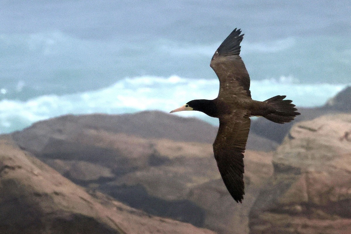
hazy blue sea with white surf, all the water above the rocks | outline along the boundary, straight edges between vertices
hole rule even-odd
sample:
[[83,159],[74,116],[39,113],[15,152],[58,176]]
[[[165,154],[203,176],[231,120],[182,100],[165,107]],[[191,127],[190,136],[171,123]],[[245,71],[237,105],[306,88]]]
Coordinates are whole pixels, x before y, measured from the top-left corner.
[[210,59],[236,27],[255,99],[281,94],[312,107],[351,83],[350,1],[0,6],[0,133],[67,113],[171,111],[216,98]]

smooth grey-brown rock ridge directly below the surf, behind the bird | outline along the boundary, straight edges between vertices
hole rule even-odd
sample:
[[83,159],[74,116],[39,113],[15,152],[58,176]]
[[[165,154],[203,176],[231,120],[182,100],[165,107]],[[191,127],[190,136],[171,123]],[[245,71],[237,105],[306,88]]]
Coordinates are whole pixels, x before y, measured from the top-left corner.
[[[125,133],[141,138],[163,138],[211,144],[216,139],[218,131],[218,127],[202,120],[183,118],[160,111],[143,111],[122,115],[64,115],[39,121],[29,129],[31,131],[15,132],[13,135],[18,142],[25,142],[35,151],[42,151],[41,147],[47,145],[50,140],[55,140],[57,144],[61,144],[62,142],[59,142],[59,140],[63,135],[69,134],[71,137],[79,138],[82,129]],[[49,145],[51,144],[53,143],[49,143]],[[250,133],[246,149],[273,151],[277,146],[278,144],[272,140]],[[82,149],[77,149],[77,151],[81,152]]]

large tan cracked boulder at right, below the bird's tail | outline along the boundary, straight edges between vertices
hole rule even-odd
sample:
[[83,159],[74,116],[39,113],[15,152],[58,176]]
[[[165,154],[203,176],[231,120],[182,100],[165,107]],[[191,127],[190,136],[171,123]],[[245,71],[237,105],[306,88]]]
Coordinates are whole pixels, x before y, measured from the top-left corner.
[[351,233],[351,115],[293,126],[250,212],[250,233]]

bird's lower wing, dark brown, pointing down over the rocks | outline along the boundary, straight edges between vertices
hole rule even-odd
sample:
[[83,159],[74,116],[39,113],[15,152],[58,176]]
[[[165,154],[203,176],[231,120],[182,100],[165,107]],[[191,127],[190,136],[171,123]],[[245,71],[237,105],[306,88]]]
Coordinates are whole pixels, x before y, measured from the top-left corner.
[[234,200],[241,202],[244,193],[244,151],[250,130],[250,118],[234,113],[219,118],[219,129],[213,143],[214,158],[225,186]]

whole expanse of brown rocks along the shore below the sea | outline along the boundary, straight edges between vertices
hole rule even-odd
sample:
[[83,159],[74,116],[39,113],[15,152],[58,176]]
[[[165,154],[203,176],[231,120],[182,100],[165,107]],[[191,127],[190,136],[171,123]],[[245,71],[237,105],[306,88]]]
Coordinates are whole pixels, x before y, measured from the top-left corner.
[[[350,112],[350,91],[299,108],[293,123]],[[217,127],[203,121],[157,111],[40,121],[1,136],[0,233],[212,233],[152,215],[218,233],[351,233],[350,122],[323,116],[287,135],[293,123],[252,121],[248,149],[285,140],[273,165],[272,153],[245,153],[237,204],[213,158]]]

